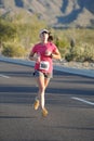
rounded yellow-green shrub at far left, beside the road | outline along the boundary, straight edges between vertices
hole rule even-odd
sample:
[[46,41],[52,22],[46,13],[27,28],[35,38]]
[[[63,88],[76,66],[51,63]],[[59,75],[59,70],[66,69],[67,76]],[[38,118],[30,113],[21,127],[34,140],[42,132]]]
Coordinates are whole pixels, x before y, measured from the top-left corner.
[[19,57],[19,56],[24,56],[25,53],[26,53],[25,49],[18,43],[14,43],[14,42],[3,43],[2,54],[5,56]]

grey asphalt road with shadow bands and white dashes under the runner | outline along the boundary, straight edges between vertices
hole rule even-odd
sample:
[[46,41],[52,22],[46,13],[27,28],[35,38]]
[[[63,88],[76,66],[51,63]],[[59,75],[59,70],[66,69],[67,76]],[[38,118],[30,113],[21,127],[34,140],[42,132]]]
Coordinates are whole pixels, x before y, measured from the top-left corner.
[[33,111],[32,67],[0,62],[0,141],[94,141],[94,78],[54,70],[49,116]]

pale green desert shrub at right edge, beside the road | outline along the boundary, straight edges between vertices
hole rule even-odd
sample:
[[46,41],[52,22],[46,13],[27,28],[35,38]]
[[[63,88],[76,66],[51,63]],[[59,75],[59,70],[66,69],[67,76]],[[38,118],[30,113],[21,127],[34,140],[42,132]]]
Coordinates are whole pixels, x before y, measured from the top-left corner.
[[94,62],[94,46],[90,43],[81,43],[72,48],[72,50],[70,48],[69,52],[65,55],[65,59],[68,62]]

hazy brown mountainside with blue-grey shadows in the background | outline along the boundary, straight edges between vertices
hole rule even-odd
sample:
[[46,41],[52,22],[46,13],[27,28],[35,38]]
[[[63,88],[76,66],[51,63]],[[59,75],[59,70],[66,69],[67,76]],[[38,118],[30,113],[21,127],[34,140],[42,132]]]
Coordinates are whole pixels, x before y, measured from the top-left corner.
[[0,0],[0,13],[37,14],[53,27],[94,27],[94,0]]

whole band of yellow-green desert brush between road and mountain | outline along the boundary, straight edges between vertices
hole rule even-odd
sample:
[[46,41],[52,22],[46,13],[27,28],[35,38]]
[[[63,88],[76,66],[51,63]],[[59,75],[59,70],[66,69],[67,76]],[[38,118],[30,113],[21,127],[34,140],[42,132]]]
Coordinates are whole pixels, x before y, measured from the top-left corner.
[[54,29],[44,21],[39,21],[37,15],[27,16],[25,12],[13,17],[6,14],[0,21],[0,48],[6,56],[27,56],[30,48],[39,41],[39,30],[49,28],[63,59],[94,62],[93,28]]

